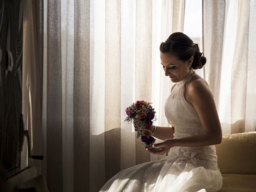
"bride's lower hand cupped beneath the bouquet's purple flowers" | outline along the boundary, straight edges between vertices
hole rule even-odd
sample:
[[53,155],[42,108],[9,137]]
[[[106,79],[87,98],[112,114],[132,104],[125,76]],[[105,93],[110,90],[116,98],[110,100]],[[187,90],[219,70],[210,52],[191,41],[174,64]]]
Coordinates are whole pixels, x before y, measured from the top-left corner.
[[174,140],[166,139],[164,142],[156,143],[151,149],[146,148],[150,153],[155,155],[165,154],[171,147],[174,147]]

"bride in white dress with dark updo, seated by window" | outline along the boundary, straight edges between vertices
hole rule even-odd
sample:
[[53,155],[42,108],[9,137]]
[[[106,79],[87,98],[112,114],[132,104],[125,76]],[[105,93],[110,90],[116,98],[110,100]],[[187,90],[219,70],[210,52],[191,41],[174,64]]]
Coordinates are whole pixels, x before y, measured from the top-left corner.
[[216,192],[222,187],[215,148],[222,141],[220,120],[208,83],[195,72],[206,58],[198,44],[176,32],[160,44],[160,59],[165,76],[175,83],[164,104],[172,128],[152,126],[152,136],[164,141],[146,150],[168,155],[118,172],[100,192]]

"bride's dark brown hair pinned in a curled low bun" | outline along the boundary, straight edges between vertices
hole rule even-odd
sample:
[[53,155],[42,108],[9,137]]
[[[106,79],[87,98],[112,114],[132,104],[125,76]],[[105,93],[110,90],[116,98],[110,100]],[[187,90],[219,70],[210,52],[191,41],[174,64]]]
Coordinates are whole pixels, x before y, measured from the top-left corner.
[[160,51],[162,53],[170,53],[176,56],[179,60],[188,60],[191,56],[194,57],[191,67],[193,69],[200,69],[206,63],[204,54],[200,52],[198,44],[184,33],[176,32],[171,34],[165,42],[160,44]]

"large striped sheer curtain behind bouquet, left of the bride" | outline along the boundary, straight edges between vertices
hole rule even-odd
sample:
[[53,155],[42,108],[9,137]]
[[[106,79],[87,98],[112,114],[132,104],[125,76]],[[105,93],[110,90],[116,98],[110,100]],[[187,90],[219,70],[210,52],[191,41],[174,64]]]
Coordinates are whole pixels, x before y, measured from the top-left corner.
[[[42,173],[50,191],[98,191],[114,174],[156,160],[125,108],[152,102],[170,126],[160,43],[183,31],[184,0],[43,2]],[[157,140],[158,142],[158,140]]]

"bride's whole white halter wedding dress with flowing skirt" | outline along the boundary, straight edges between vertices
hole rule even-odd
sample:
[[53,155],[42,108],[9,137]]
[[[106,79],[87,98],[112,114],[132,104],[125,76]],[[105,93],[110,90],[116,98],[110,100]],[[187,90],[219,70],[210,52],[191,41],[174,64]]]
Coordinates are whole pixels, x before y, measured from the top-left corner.
[[[176,83],[165,102],[165,116],[174,126],[174,138],[201,134],[202,124],[193,106],[184,99],[184,85],[197,75],[191,70]],[[153,134],[154,135],[154,134]],[[122,170],[100,192],[216,192],[222,187],[214,145],[170,148],[161,160]]]

